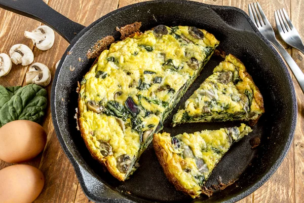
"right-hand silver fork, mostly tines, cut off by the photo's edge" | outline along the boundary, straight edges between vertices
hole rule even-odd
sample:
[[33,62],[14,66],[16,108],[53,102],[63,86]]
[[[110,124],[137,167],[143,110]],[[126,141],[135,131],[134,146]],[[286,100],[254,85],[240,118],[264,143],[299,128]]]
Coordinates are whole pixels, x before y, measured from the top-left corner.
[[281,38],[304,54],[304,45],[296,28],[292,25],[285,9],[275,11],[275,19]]

